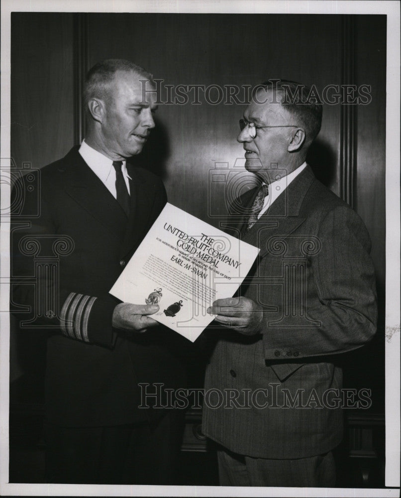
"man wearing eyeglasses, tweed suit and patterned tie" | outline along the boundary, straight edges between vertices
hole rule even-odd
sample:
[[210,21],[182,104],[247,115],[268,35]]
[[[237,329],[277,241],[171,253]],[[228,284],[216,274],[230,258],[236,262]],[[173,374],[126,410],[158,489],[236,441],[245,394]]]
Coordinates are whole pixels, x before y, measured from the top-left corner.
[[208,331],[205,390],[224,402],[207,397],[202,431],[218,443],[225,486],[335,486],[332,450],[350,407],[341,353],[376,332],[367,230],[305,162],[322,117],[308,95],[268,81],[240,120],[260,185],[236,200],[244,211],[231,210],[228,228],[260,253],[237,295],[209,308],[221,328]]

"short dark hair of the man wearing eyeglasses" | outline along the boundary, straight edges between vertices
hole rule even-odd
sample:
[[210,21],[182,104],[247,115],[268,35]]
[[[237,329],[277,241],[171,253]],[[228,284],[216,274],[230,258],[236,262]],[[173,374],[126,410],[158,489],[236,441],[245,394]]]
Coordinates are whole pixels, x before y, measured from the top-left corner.
[[255,91],[264,88],[267,91],[280,92],[280,105],[296,119],[301,121],[306,131],[306,140],[312,142],[321,127],[323,106],[316,97],[316,90],[290,80],[268,80],[255,87]]

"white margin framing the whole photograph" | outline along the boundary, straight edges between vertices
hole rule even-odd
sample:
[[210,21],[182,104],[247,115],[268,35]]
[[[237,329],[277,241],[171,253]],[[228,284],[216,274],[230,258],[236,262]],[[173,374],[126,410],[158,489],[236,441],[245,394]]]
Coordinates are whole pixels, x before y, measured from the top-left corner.
[[[49,8],[51,6],[51,8]],[[387,14],[386,486],[400,486],[400,2],[397,0],[2,0],[0,158],[10,157],[10,12]],[[3,159],[1,159],[3,161]],[[1,164],[3,165],[3,163]],[[9,188],[1,181],[1,207]],[[0,309],[8,309],[9,226],[1,223]],[[399,497],[399,489],[229,488],[7,484],[9,319],[0,313],[0,495]],[[391,336],[391,337],[390,337]],[[371,368],[375,368],[374,365]]]

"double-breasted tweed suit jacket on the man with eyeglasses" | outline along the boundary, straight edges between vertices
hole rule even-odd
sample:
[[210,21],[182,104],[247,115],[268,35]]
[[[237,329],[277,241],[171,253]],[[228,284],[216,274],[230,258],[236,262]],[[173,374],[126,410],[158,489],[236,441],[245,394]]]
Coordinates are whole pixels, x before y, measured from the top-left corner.
[[205,398],[202,431],[252,457],[325,453],[342,438],[341,353],[376,332],[369,235],[309,166],[246,234],[244,223],[231,233],[261,250],[239,293],[261,304],[263,324],[253,336],[209,331],[205,389],[214,399]]

